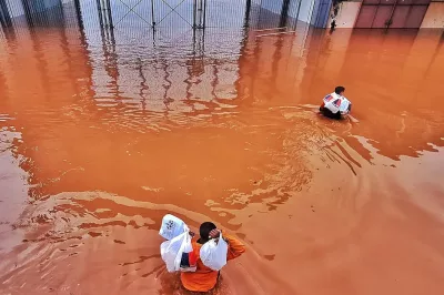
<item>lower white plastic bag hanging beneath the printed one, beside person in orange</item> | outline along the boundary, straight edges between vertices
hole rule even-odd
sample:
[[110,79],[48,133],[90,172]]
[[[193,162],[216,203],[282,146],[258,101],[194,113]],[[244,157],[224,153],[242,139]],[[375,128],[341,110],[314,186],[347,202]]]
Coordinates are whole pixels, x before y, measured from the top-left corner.
[[[186,225],[185,225],[186,227]],[[190,253],[193,251],[191,244],[190,231],[185,230],[184,233],[173,237],[170,241],[165,241],[160,245],[160,255],[165,262],[167,269],[169,273],[181,272],[195,272],[195,266],[181,267],[181,260],[183,253]]]

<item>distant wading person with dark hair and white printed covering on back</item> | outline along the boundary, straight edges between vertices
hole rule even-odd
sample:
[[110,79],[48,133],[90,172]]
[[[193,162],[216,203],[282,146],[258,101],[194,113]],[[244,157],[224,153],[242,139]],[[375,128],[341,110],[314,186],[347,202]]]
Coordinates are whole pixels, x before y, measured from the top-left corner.
[[334,92],[327,94],[320,108],[323,115],[331,119],[341,119],[352,111],[352,103],[344,98],[345,88],[336,87]]

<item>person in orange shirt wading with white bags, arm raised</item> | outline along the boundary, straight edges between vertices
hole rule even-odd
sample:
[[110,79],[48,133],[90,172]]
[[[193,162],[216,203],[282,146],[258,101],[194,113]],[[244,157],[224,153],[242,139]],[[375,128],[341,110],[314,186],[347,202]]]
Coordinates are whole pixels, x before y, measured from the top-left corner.
[[[204,222],[199,228],[200,238],[193,238],[193,252],[190,256],[193,256],[193,261],[196,260],[196,271],[193,273],[181,273],[181,282],[184,288],[191,292],[209,292],[214,288],[218,283],[219,272],[213,271],[203,265],[200,258],[200,250],[203,244],[210,241],[210,238],[218,238],[221,231],[211,222]],[[234,236],[223,232],[223,238],[229,245],[226,253],[226,261],[234,260],[241,256],[245,252],[245,245],[238,241]]]

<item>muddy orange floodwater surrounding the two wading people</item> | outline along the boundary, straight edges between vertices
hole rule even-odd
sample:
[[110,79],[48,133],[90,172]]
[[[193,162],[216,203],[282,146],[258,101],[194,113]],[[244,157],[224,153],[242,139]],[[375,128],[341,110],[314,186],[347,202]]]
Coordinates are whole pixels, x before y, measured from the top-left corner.
[[0,294],[188,294],[167,213],[246,244],[213,294],[443,294],[442,31],[124,33],[0,39]]

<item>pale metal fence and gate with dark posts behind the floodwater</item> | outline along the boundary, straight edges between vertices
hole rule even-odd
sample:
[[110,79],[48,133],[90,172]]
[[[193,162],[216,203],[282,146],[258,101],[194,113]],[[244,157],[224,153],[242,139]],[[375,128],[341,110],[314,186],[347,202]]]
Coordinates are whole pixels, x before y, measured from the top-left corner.
[[0,0],[0,26],[60,26],[72,4],[80,22],[124,30],[296,26],[292,0]]

